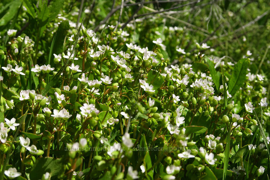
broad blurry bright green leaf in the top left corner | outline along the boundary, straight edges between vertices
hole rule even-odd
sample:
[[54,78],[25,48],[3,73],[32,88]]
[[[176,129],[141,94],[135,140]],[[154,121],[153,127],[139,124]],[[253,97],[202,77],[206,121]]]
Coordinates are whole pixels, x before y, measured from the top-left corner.
[[[7,23],[9,23],[11,21],[11,19],[13,19],[13,17],[16,15],[20,5],[21,5],[21,1],[20,0],[13,0],[10,1],[9,4],[7,4],[4,9],[7,9],[7,12],[1,17],[0,19],[0,26],[5,26]],[[2,12],[1,12],[2,13]]]

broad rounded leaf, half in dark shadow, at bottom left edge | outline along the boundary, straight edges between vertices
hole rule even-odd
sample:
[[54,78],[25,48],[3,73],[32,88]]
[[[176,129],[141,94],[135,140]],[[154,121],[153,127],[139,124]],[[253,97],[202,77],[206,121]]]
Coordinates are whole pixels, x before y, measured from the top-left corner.
[[30,171],[30,179],[41,179],[46,172],[50,173],[51,179],[55,179],[58,174],[64,172],[65,163],[62,159],[38,158]]

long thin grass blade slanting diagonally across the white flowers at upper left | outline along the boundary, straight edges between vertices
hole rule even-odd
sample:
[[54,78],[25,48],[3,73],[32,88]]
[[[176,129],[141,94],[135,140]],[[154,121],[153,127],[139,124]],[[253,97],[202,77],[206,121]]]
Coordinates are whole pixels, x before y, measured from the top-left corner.
[[[82,22],[83,22],[83,19],[82,19]],[[74,53],[75,51],[75,47],[76,47],[76,44],[78,42],[78,39],[79,39],[79,35],[80,35],[80,30],[82,28],[82,23],[78,29],[78,32],[77,32],[77,36],[76,36],[76,40],[74,42],[74,46],[73,46],[73,49],[72,49],[72,52],[71,52],[71,55]],[[70,55],[70,57],[71,57]],[[64,69],[67,67],[67,64],[69,63],[69,59],[70,57],[67,59],[66,63],[61,67],[61,69],[55,74],[55,76],[53,76],[52,80],[46,85],[46,87],[44,88],[43,92],[42,92],[42,95],[45,96],[50,88],[52,88],[53,85],[56,84],[57,80],[59,79],[60,77],[60,74],[64,71]],[[73,56],[73,59],[75,58],[75,55]]]

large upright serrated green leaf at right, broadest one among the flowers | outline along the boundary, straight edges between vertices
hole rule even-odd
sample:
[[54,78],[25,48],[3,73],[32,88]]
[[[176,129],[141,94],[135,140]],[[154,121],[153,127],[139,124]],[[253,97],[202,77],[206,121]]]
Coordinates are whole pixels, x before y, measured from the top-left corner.
[[228,83],[229,93],[233,96],[244,84],[247,75],[248,59],[240,59],[232,71],[232,76]]

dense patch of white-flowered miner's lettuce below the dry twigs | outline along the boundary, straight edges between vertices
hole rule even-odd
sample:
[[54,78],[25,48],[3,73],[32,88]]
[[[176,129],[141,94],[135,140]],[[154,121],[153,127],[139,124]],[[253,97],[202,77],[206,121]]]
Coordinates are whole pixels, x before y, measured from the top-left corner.
[[0,179],[269,179],[269,47],[220,56],[101,2],[0,3]]

